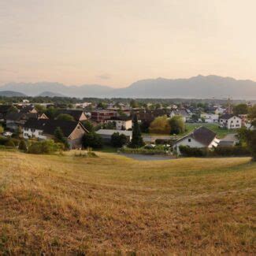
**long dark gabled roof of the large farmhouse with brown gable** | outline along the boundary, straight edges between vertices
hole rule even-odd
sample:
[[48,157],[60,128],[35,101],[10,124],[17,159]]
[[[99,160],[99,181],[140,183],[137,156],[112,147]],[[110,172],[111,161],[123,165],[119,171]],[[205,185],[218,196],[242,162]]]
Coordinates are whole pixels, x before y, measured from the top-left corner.
[[[24,124],[25,128],[33,128],[37,130],[42,130],[44,133],[49,135],[54,135],[56,128],[61,128],[61,131],[65,135],[65,137],[69,137],[71,133],[76,128],[77,124],[80,122],[75,121],[63,121],[63,120],[50,120],[50,119],[34,119],[30,118]],[[82,124],[80,126],[83,128],[85,132],[87,132],[86,128],[83,127]]]

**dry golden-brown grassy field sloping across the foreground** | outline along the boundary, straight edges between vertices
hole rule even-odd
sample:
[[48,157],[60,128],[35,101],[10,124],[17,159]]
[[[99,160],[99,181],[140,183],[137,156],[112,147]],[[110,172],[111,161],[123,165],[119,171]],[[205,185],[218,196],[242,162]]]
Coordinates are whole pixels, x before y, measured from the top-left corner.
[[0,151],[0,254],[255,254],[250,158]]

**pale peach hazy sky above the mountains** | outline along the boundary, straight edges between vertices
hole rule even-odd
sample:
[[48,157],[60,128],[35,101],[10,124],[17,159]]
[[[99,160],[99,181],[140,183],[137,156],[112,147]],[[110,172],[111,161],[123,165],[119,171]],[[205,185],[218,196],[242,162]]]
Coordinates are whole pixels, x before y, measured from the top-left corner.
[[255,0],[0,0],[0,83],[256,80]]

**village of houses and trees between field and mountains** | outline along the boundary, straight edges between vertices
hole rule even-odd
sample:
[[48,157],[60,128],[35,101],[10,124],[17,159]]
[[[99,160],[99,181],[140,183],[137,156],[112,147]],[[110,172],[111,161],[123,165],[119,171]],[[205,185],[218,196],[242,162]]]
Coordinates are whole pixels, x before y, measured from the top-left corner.
[[[0,143],[19,148],[22,142],[20,148],[26,151],[35,142],[50,140],[65,150],[92,148],[173,157],[204,156],[204,150],[215,150],[246,155],[249,152],[243,149],[239,134],[254,129],[248,118],[253,108],[250,102],[234,105],[229,99],[223,104],[168,105],[135,99],[58,104],[20,98],[0,105]],[[133,136],[138,134],[141,138],[136,142]]]

